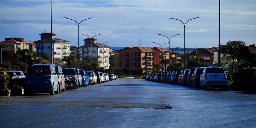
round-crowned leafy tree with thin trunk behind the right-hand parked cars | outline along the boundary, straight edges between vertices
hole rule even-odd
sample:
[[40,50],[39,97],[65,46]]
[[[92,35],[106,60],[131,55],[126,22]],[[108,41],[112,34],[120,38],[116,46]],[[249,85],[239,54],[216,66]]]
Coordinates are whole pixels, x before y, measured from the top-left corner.
[[246,55],[248,55],[248,53],[249,50],[243,41],[228,41],[227,45],[222,48],[223,56],[233,60],[231,72],[233,72],[234,69],[234,61],[237,60],[240,62],[241,60],[247,59]]

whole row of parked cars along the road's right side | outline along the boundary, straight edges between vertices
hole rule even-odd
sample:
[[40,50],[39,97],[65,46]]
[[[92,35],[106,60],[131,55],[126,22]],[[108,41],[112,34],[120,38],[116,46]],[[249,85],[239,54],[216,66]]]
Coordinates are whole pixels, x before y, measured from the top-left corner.
[[199,67],[147,74],[146,80],[187,85],[191,87],[220,87],[227,89],[227,72],[222,67]]

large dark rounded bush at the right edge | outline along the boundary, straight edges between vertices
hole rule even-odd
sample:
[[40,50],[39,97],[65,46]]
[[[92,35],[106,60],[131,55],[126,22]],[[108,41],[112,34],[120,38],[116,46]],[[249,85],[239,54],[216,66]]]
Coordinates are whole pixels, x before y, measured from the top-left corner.
[[232,75],[234,89],[256,91],[256,68],[240,69]]

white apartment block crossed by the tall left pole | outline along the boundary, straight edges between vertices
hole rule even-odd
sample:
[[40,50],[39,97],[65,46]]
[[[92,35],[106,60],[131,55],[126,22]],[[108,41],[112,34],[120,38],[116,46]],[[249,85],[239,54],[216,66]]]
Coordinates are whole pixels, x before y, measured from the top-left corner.
[[[50,57],[53,54],[54,58],[62,58],[63,56],[69,56],[71,51],[69,50],[69,43],[70,41],[66,41],[64,39],[56,38],[56,34],[51,33],[41,33],[39,34],[41,39],[35,41],[36,44],[35,48],[36,53],[40,54],[48,54]],[[52,41],[51,41],[52,39]],[[52,49],[52,42],[53,42],[53,53]]]

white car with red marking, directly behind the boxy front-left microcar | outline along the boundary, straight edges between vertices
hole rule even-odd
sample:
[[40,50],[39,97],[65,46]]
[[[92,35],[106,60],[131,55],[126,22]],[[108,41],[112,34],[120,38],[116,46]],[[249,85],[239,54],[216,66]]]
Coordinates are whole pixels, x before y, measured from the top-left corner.
[[65,91],[66,90],[66,85],[65,85],[65,76],[63,74],[62,68],[59,65],[54,65],[55,71],[58,75],[59,79],[59,84],[60,84],[60,89],[59,91]]

